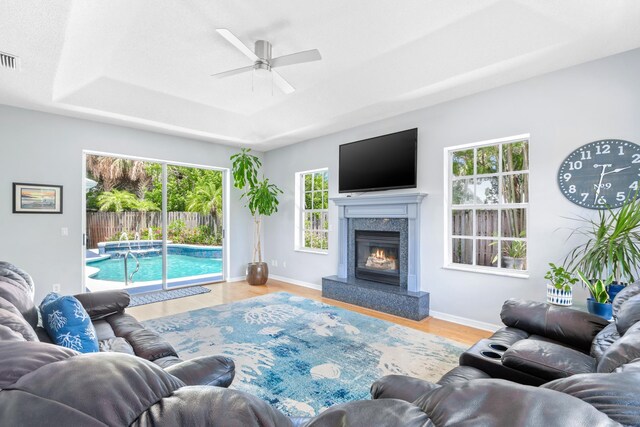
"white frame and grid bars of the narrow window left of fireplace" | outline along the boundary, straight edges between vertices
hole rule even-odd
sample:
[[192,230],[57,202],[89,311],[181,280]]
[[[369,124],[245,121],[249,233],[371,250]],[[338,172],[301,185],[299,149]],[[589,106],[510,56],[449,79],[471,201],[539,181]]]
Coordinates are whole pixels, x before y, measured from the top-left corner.
[[[313,188],[314,185],[314,180],[313,180],[313,175],[314,174],[326,174],[327,175],[327,188],[326,189],[320,189],[320,190],[316,190]],[[312,183],[312,187],[311,187],[311,191],[306,191],[305,189],[305,185],[304,185],[304,179],[305,176],[307,175],[311,175],[312,179],[311,179],[311,183]],[[328,167],[324,167],[324,168],[318,168],[318,169],[311,169],[311,170],[306,170],[306,171],[300,171],[300,172],[296,172],[295,173],[295,194],[296,194],[296,203],[295,203],[295,238],[294,238],[294,250],[299,251],[299,252],[309,252],[309,253],[314,253],[314,254],[321,254],[321,255],[327,255],[329,253],[329,231],[330,231],[330,226],[329,226],[329,168]],[[327,208],[326,209],[306,209],[305,208],[305,195],[306,193],[311,193],[312,194],[312,200],[313,200],[313,193],[314,191],[326,191],[326,196],[327,196]],[[323,195],[324,197],[324,195]],[[315,213],[315,212],[320,212],[320,213],[326,213],[327,215],[327,228],[326,229],[310,229],[310,230],[306,230],[305,229],[305,221],[304,221],[304,217],[305,217],[305,213],[310,212],[310,213]],[[310,248],[305,246],[305,231],[314,231],[314,232],[323,232],[326,233],[327,236],[327,249],[322,249],[322,248]]]

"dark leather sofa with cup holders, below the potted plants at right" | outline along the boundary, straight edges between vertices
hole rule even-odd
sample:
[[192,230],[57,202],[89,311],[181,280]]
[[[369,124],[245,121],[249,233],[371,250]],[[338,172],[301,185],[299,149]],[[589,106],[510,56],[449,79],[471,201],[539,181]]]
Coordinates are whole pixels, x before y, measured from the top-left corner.
[[541,385],[584,373],[610,373],[640,358],[640,284],[614,301],[613,321],[550,304],[510,299],[505,328],[460,356],[493,378]]

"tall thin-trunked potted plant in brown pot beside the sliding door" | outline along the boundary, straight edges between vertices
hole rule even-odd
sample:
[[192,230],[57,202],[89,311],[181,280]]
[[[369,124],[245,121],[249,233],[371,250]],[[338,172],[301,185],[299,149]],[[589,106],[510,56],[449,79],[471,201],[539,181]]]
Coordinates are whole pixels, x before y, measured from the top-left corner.
[[251,149],[243,148],[240,153],[231,156],[233,186],[243,190],[241,198],[245,199],[255,226],[253,262],[247,264],[246,279],[250,285],[264,285],[269,278],[269,267],[262,262],[262,245],[260,228],[263,216],[278,211],[278,194],[282,194],[276,185],[262,177],[258,180],[258,171],[262,167],[260,159],[249,154]]

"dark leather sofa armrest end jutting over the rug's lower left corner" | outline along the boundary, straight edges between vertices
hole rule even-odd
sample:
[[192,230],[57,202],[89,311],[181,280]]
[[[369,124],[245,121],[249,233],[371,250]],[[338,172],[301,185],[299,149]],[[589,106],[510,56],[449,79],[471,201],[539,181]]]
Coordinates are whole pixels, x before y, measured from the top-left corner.
[[165,371],[186,385],[229,387],[235,376],[235,364],[224,356],[202,356],[176,363]]

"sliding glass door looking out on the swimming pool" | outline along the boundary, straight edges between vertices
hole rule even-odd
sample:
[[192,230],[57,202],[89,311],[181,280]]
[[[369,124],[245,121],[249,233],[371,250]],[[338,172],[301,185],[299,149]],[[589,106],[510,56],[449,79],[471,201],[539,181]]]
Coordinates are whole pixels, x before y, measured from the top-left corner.
[[85,154],[85,287],[149,292],[224,280],[225,171]]

